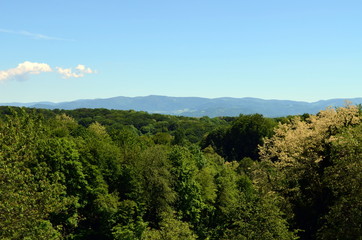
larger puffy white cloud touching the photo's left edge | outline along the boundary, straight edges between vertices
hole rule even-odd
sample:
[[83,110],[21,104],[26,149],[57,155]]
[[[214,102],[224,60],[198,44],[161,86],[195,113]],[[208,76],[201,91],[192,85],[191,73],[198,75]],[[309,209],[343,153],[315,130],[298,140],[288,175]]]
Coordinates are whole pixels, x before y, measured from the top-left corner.
[[26,61],[20,63],[16,68],[0,71],[0,81],[5,81],[8,79],[24,80],[29,75],[51,71],[51,67],[46,63],[32,63]]

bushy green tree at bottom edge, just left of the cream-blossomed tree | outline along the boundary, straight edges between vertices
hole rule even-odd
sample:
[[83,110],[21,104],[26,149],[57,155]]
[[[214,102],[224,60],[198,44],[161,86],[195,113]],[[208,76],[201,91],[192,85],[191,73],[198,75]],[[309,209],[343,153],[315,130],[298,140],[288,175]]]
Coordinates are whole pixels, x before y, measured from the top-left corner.
[[218,177],[215,239],[297,239],[281,211],[277,195],[255,189],[239,174],[239,163],[227,162]]

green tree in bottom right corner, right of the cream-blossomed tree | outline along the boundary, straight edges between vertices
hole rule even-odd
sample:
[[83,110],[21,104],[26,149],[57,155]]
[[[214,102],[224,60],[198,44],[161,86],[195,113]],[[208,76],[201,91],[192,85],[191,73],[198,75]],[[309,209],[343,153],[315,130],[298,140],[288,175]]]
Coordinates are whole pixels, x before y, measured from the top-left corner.
[[323,183],[331,205],[319,229],[319,239],[362,239],[362,125],[349,127],[332,143],[331,166]]

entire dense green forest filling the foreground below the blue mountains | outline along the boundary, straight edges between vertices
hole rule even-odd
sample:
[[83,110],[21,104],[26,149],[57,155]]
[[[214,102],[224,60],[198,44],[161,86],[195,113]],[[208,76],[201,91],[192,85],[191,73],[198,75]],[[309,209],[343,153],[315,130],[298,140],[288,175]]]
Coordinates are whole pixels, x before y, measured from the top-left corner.
[[362,239],[361,120],[0,107],[0,239]]

